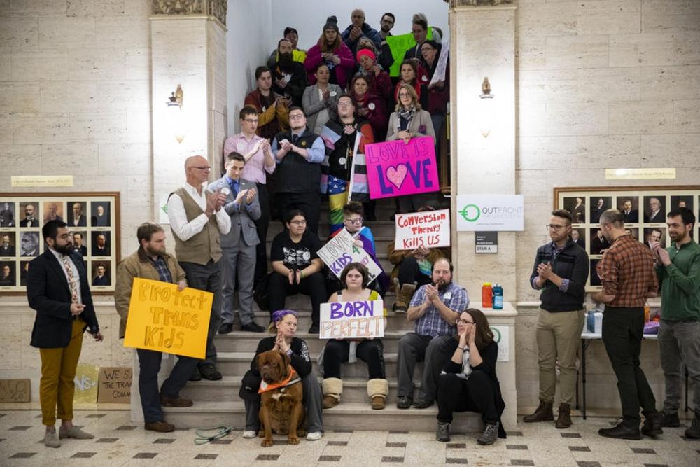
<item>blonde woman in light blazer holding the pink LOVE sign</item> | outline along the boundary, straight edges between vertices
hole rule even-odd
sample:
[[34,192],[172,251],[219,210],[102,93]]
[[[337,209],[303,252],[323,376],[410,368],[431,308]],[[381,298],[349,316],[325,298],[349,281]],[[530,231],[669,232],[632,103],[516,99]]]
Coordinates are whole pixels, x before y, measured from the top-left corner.
[[[418,102],[418,95],[412,85],[400,83],[398,87],[398,104],[389,117],[386,141],[402,139],[406,144],[415,137],[432,137],[435,144],[435,131],[430,113],[423,110]],[[421,195],[398,197],[398,213],[416,212],[423,204]]]

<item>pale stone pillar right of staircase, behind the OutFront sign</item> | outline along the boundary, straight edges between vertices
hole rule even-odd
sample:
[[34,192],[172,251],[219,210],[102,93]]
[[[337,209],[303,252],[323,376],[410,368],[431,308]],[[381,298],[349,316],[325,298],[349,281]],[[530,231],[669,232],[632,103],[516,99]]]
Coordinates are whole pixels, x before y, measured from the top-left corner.
[[[514,0],[451,1],[453,216],[459,210],[456,195],[515,194],[515,9]],[[494,96],[488,137],[482,135],[486,116],[479,97],[484,77]],[[478,255],[472,232],[452,234],[456,279],[470,292],[472,303],[481,305],[484,281],[503,284],[504,300],[514,302],[515,233],[498,233],[498,254]]]

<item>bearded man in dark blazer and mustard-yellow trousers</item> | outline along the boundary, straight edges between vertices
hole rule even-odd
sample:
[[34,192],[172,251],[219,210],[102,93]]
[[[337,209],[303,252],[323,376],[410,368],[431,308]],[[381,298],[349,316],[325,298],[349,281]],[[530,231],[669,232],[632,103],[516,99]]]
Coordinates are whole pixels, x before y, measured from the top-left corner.
[[[27,272],[27,300],[36,310],[31,346],[41,355],[39,399],[46,426],[44,444],[59,447],[61,438],[92,439],[93,435],[73,426],[73,393],[76,367],[87,329],[102,341],[92,305],[83,258],[73,251],[66,223],[53,220],[41,233],[47,248],[31,260]],[[56,405],[62,419],[56,433]]]

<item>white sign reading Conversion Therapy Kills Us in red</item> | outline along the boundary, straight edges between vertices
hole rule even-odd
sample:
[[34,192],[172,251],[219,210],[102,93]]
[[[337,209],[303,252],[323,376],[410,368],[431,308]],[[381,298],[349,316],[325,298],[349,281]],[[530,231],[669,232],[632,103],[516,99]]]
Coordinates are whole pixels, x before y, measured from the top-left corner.
[[394,249],[413,250],[419,246],[449,246],[449,209],[396,214]]

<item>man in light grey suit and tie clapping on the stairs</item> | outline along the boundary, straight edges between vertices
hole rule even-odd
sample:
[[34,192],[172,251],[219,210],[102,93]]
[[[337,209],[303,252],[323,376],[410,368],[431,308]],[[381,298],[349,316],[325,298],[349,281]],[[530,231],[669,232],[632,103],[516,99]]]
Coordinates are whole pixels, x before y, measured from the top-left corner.
[[[241,330],[262,333],[253,315],[253,279],[255,246],[260,243],[255,221],[260,218],[260,200],[255,182],[241,179],[246,159],[237,152],[226,156],[226,174],[207,187],[207,191],[226,195],[223,209],[231,217],[231,230],[221,235],[221,327],[219,334],[233,330],[233,294],[238,279],[238,313]],[[265,239],[262,239],[264,242]]]

